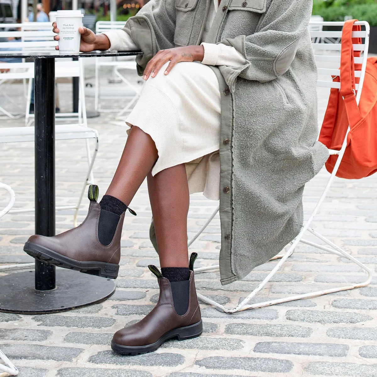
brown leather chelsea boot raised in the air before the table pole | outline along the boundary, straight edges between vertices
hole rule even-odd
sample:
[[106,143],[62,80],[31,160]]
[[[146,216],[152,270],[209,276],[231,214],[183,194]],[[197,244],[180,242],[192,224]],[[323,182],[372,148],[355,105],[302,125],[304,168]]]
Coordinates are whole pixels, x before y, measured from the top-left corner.
[[116,279],[124,212],[115,218],[115,233],[109,237],[106,230],[107,219],[103,218],[103,215],[111,216],[111,213],[103,211],[101,216],[101,206],[97,203],[98,193],[97,185],[89,186],[89,211],[86,219],[77,228],[52,237],[31,236],[25,243],[24,251],[44,263]]

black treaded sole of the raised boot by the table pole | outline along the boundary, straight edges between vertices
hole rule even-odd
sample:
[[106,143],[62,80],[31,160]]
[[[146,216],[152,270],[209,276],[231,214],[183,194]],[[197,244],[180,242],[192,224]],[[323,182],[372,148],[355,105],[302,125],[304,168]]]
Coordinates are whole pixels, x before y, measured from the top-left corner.
[[38,261],[57,267],[80,271],[84,274],[106,277],[107,279],[116,279],[118,277],[118,264],[75,261],[75,259],[65,257],[48,248],[33,244],[32,242],[26,242],[24,251],[33,258],[38,259]]

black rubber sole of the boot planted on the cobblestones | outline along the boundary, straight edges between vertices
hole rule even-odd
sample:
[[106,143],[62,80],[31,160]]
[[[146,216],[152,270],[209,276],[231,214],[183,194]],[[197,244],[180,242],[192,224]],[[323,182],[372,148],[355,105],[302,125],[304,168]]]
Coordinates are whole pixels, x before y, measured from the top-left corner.
[[113,351],[124,354],[124,355],[139,355],[144,354],[147,352],[155,351],[165,340],[178,338],[178,340],[185,340],[195,338],[203,332],[203,323],[200,320],[198,323],[194,325],[179,327],[178,329],[174,329],[169,331],[169,333],[164,334],[161,338],[157,340],[155,343],[147,344],[146,346],[123,346],[121,344],[115,343],[113,340],[111,341],[111,348]]

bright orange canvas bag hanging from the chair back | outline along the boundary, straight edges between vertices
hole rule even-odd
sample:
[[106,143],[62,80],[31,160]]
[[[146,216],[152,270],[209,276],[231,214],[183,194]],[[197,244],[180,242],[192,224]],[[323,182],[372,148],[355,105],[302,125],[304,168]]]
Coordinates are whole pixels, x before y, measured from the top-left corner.
[[[342,32],[342,53],[340,58],[340,90],[331,89],[328,106],[319,135],[319,141],[329,149],[340,150],[348,129],[347,146],[336,176],[359,179],[377,171],[377,57],[368,58],[359,106],[356,102],[354,70],[361,70],[361,64],[354,64],[353,44],[362,43],[361,38],[352,38],[357,20],[346,21]],[[329,156],[326,169],[332,172],[338,156]]]

